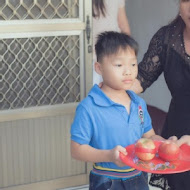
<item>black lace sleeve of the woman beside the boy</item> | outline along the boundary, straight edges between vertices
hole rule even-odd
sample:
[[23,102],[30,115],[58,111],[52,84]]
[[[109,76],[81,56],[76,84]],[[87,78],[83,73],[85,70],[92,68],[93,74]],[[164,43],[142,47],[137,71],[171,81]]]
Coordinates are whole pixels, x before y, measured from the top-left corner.
[[166,27],[162,27],[150,41],[147,52],[142,62],[139,63],[137,79],[140,81],[143,90],[146,90],[163,71],[164,64],[164,36]]

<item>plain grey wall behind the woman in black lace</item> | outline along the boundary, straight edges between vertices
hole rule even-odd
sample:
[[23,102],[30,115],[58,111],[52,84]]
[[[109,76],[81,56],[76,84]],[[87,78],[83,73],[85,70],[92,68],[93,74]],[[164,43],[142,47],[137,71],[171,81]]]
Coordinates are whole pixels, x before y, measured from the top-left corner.
[[[147,51],[154,33],[167,25],[178,13],[178,0],[127,0],[126,9],[132,36],[139,43],[138,62]],[[163,75],[143,93],[147,104],[164,111],[168,110],[171,100],[170,92]]]

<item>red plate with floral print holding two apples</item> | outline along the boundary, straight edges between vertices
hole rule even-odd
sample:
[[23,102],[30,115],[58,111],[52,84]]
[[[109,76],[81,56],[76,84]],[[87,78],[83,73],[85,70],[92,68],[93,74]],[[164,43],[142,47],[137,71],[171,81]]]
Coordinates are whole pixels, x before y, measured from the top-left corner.
[[[155,141],[155,144],[158,149],[161,142]],[[156,174],[181,173],[190,170],[190,146],[186,144],[180,147],[179,159],[172,162],[166,162],[162,160],[159,158],[158,154],[156,154],[156,156],[150,161],[139,160],[135,156],[134,148],[134,144],[127,146],[127,156],[120,153],[120,159],[126,165],[131,166],[137,170]]]

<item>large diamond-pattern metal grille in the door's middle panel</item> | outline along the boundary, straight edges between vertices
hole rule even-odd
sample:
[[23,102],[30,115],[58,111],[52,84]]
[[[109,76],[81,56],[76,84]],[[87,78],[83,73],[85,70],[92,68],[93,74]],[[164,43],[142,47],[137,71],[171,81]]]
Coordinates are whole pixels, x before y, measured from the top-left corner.
[[80,100],[79,36],[0,40],[0,109]]

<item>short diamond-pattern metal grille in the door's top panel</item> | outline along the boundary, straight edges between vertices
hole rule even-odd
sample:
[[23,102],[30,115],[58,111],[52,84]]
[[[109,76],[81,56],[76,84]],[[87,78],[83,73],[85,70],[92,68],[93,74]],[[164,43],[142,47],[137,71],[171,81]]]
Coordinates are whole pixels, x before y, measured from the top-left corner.
[[1,0],[0,20],[79,17],[80,0]]

